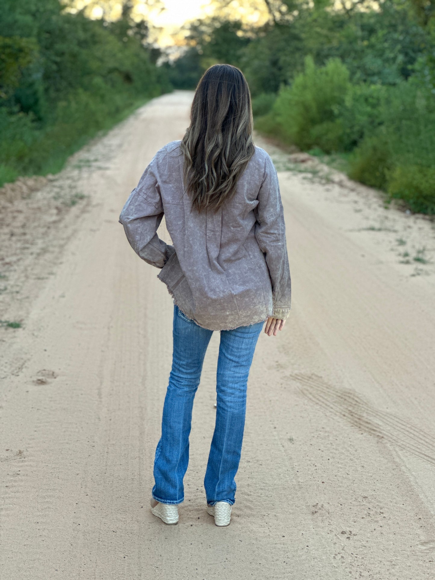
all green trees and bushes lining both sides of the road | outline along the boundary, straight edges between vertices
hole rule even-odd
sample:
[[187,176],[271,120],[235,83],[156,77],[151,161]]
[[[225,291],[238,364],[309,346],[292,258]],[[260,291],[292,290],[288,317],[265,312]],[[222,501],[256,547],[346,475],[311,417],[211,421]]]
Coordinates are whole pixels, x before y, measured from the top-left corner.
[[140,104],[226,62],[248,79],[258,131],[435,214],[434,0],[264,0],[260,28],[237,20],[260,0],[215,0],[162,66],[135,3],[120,3],[113,22],[68,0],[0,2],[0,186],[59,171]]

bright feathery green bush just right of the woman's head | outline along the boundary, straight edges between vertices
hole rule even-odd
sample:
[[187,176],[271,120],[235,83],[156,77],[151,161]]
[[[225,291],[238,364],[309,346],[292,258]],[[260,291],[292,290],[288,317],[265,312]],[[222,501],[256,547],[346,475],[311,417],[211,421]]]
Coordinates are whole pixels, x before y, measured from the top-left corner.
[[[338,59],[316,67],[308,58],[305,65],[291,86],[281,88],[269,117],[258,121],[259,130],[280,135],[302,149],[319,147],[325,153],[353,150],[382,124],[380,104],[385,88],[351,84]],[[257,99],[261,111],[266,99],[263,95],[254,99],[255,107]]]

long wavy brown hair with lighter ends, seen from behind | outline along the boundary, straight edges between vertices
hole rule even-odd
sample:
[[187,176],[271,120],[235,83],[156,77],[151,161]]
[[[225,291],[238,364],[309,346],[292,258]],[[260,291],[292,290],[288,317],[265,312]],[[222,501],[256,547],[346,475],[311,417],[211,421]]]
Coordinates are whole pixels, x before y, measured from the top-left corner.
[[215,64],[198,83],[190,126],[180,148],[184,188],[193,208],[217,211],[235,194],[237,180],[255,153],[251,93],[242,71]]

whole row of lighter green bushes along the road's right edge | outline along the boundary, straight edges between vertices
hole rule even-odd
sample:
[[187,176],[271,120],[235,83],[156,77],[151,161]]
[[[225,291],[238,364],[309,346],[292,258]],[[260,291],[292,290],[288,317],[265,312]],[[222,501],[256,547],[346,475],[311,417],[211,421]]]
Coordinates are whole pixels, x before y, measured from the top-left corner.
[[269,113],[269,97],[254,99],[254,110],[266,112],[255,127],[303,150],[347,155],[352,179],[435,213],[433,95],[422,75],[394,86],[352,84],[340,60],[316,67],[307,58]]

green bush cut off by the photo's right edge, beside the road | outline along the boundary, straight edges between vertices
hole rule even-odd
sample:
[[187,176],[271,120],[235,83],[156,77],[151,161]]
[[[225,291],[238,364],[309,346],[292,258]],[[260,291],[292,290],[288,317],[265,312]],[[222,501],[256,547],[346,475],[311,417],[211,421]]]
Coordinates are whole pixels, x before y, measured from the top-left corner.
[[354,150],[349,175],[412,211],[435,213],[435,103],[418,79],[391,87],[379,106],[377,129]]

